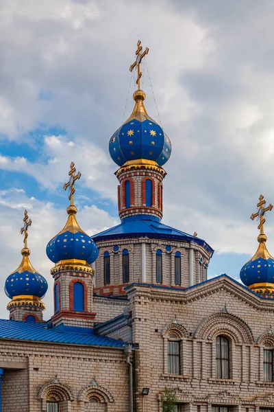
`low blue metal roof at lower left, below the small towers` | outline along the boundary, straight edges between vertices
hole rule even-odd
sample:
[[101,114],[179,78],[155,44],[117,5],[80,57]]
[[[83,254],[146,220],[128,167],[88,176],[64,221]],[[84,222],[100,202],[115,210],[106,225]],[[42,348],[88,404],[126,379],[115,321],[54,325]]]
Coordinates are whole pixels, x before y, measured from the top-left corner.
[[70,326],[54,327],[51,323],[30,323],[0,319],[0,339],[23,339],[74,345],[95,345],[122,348],[127,343],[107,336],[98,336],[93,329]]

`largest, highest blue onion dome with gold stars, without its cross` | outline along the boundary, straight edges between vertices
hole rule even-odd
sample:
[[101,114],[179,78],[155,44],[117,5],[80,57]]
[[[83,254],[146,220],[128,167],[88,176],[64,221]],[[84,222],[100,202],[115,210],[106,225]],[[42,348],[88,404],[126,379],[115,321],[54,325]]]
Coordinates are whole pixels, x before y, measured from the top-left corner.
[[127,161],[145,159],[164,165],[171,156],[171,141],[149,115],[143,104],[145,93],[135,91],[132,115],[110,138],[110,156],[119,166]]

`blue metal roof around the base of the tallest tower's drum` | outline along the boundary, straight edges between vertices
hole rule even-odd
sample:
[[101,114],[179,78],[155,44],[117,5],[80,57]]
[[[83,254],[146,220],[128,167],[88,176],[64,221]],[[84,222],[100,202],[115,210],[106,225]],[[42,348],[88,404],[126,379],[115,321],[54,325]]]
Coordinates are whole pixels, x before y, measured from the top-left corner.
[[164,225],[160,222],[159,218],[150,215],[137,215],[130,216],[121,220],[121,224],[114,226],[110,229],[102,231],[92,239],[95,242],[100,240],[112,240],[122,238],[160,238],[166,240],[185,240],[186,242],[193,242],[199,244],[210,253],[213,254],[214,250],[203,239],[196,238],[173,227]]

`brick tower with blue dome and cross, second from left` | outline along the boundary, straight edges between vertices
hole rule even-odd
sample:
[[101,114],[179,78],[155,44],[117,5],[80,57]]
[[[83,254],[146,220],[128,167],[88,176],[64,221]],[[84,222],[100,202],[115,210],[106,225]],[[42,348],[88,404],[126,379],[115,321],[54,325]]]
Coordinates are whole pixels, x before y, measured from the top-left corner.
[[69,215],[64,228],[47,244],[47,256],[55,263],[51,269],[54,279],[53,325],[92,327],[95,313],[92,310],[93,275],[91,264],[98,256],[98,249],[79,227],[76,220],[77,207],[74,204],[75,181],[81,173],[71,162],[69,182],[64,190],[70,189],[71,204],[66,211]]

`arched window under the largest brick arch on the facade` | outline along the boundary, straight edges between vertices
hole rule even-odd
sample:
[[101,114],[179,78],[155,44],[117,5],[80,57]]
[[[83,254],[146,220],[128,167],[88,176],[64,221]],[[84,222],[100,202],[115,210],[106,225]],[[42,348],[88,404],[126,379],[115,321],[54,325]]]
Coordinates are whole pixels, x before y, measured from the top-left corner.
[[229,341],[221,335],[216,338],[216,378],[229,379]]

